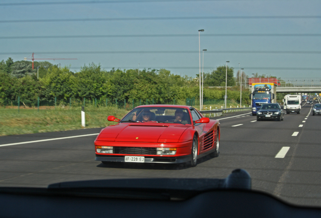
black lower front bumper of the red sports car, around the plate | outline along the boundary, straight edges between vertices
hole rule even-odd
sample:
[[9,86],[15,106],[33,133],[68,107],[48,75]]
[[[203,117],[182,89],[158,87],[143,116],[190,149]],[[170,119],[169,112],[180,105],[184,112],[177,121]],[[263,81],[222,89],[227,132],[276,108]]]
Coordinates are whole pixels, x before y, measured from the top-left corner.
[[[126,155],[127,156],[127,155]],[[130,155],[133,156],[133,155]],[[106,162],[125,162],[125,155],[100,155],[96,154],[95,160],[106,161]],[[162,157],[162,156],[145,156],[144,163],[184,163],[192,160],[191,155],[186,156],[173,156],[173,157]]]

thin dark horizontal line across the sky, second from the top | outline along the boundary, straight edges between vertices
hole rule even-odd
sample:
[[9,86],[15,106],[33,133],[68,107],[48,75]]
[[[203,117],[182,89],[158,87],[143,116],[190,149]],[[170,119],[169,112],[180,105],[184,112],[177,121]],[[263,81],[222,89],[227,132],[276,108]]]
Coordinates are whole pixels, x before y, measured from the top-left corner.
[[207,16],[207,17],[141,17],[141,18],[76,18],[0,20],[0,23],[84,22],[84,21],[146,21],[146,20],[213,20],[213,19],[319,19],[321,16]]

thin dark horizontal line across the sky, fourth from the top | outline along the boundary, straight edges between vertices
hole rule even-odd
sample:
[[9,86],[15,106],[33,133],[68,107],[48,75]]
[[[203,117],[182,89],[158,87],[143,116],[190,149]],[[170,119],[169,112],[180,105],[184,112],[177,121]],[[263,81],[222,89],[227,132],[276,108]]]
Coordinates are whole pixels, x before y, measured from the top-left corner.
[[[266,53],[266,54],[320,54],[321,51],[263,51],[263,50],[207,50],[207,53]],[[124,54],[124,53],[198,53],[195,50],[151,50],[151,51],[38,51],[35,53],[43,55],[52,55],[52,54]],[[0,52],[0,55],[26,55],[30,54],[28,52]]]

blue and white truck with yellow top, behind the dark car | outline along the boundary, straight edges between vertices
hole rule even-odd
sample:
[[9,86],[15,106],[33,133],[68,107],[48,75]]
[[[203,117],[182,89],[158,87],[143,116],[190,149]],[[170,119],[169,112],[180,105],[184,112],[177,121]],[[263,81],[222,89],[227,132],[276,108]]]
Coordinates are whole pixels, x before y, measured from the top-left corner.
[[252,115],[256,116],[262,104],[277,102],[277,84],[252,83],[250,99],[252,100]]

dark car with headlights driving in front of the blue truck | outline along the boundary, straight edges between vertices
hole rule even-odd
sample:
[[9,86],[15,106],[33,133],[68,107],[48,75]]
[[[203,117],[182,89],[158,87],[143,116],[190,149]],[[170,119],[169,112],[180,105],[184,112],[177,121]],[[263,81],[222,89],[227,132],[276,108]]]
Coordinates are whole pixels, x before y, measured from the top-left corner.
[[278,103],[262,104],[260,110],[256,114],[256,120],[278,120],[282,121],[284,118],[283,110]]

